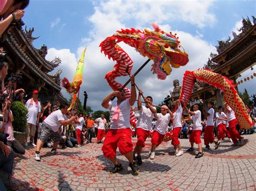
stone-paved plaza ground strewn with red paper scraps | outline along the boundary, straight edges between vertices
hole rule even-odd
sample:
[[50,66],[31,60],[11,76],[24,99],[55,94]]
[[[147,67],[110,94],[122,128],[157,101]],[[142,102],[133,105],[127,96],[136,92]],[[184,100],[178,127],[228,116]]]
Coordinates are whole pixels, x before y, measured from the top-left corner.
[[[13,176],[21,184],[19,190],[255,190],[256,133],[244,137],[243,146],[231,146],[226,138],[218,150],[208,150],[199,159],[194,158],[195,152],[176,157],[171,142],[164,142],[154,160],[147,155],[151,147],[147,139],[138,174],[131,174],[129,162],[119,152],[124,169],[109,174],[113,165],[104,158],[102,144],[65,148],[58,150],[59,155],[43,148],[41,162],[28,148],[23,159],[15,158]],[[136,140],[132,139],[134,145]],[[181,146],[187,150],[188,139],[181,139]]]

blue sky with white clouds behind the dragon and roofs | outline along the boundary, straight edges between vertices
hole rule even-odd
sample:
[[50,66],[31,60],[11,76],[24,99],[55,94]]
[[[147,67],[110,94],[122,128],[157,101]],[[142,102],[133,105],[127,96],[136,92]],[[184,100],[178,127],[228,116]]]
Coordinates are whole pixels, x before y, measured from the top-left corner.
[[[150,65],[136,77],[138,86],[146,95],[159,103],[173,89],[172,81],[182,82],[185,70],[204,66],[218,40],[225,40],[241,26],[242,17],[255,15],[255,1],[82,1],[82,0],[31,0],[25,9],[25,25],[34,27],[33,42],[37,48],[48,47],[46,59],[62,59],[61,77],[73,79],[77,61],[87,45],[84,81],[81,91],[87,91],[87,105],[93,110],[103,110],[100,103],[111,92],[104,79],[114,62],[108,60],[98,47],[100,42],[121,28],[144,29],[155,22],[165,31],[176,31],[181,45],[189,55],[185,67],[173,69],[165,81],[151,74]],[[133,48],[121,44],[134,61],[133,72],[146,59]],[[256,66],[254,67],[256,68]],[[255,69],[254,69],[255,71]],[[250,74],[246,71],[243,76]],[[123,82],[127,77],[119,79]],[[239,86],[255,94],[255,80]],[[63,95],[68,97],[65,91]],[[83,100],[83,96],[80,97]]]

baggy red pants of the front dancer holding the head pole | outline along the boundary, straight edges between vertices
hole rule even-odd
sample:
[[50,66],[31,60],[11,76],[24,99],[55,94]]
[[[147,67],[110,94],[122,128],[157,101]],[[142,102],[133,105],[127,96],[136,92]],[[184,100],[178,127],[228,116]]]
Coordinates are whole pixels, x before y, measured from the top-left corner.
[[103,154],[106,158],[116,156],[117,146],[122,155],[132,152],[131,129],[109,129],[107,131],[104,144],[102,146]]

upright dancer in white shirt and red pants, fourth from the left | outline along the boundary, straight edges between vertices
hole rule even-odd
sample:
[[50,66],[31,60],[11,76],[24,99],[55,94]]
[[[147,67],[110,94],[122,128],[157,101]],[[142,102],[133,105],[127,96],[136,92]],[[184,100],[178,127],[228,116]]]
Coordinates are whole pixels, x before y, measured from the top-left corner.
[[174,146],[174,149],[176,152],[174,153],[176,157],[183,155],[183,150],[180,146],[179,142],[179,133],[182,129],[182,124],[181,124],[181,118],[182,118],[182,107],[181,103],[179,100],[173,102],[174,105],[176,105],[177,110],[173,113],[173,118],[172,118],[172,145]]

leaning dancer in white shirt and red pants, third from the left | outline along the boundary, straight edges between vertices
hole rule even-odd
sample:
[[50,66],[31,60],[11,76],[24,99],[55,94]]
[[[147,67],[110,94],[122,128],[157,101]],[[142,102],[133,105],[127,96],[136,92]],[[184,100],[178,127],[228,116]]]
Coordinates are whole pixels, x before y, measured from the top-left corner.
[[[167,112],[169,112],[169,114],[167,114]],[[157,114],[157,112],[154,112],[154,118],[157,119],[157,123],[156,123],[156,128],[154,128],[153,136],[151,138],[152,145],[151,145],[151,150],[149,152],[150,159],[154,159],[157,146],[160,145],[160,143],[164,140],[164,136],[168,128],[168,124],[172,117],[173,117],[173,114],[166,105],[161,106],[160,114]]]

